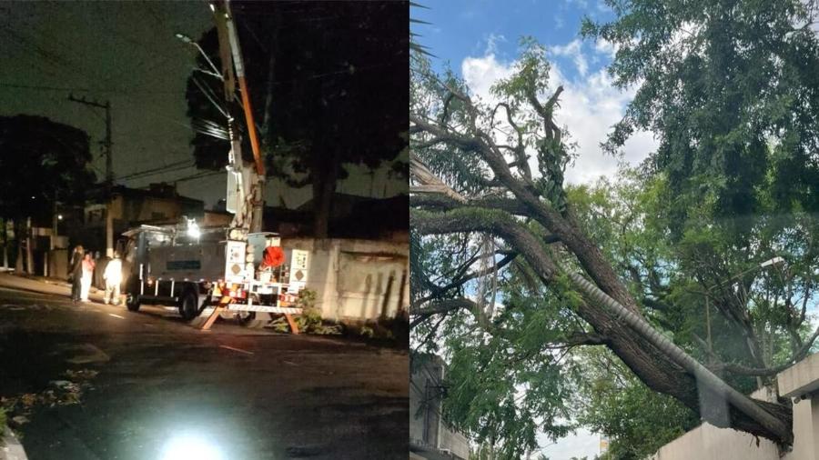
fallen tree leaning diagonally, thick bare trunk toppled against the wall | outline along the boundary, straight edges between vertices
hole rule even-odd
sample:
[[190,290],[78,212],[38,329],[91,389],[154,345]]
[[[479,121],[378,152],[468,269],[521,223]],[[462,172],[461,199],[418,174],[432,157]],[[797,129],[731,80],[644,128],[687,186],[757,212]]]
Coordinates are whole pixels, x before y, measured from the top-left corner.
[[[487,104],[473,100],[456,78],[433,75],[423,58],[415,60],[410,227],[413,258],[427,260],[413,260],[411,314],[424,333],[420,341],[435,334],[440,321],[433,323],[434,318],[461,311],[474,317],[487,337],[483,344],[511,335],[503,322],[504,315],[514,315],[512,308],[499,313],[491,286],[496,282],[480,282],[509,265],[516,281],[532,285],[528,292],[556,295],[557,312],[582,320],[570,322],[560,335],[545,335],[532,353],[606,346],[645,385],[703,420],[790,444],[790,405],[743,395],[659,334],[601,247],[581,228],[563,186],[571,146],[553,118],[562,88],[548,86],[548,73],[541,46],[526,43],[514,73],[493,86]],[[444,238],[443,243],[415,250],[430,237]],[[428,276],[433,272],[438,279]],[[477,287],[465,295],[462,287],[475,280]],[[800,353],[789,362],[804,355],[814,339],[798,344]],[[721,370],[770,375],[771,367],[760,363],[755,369],[723,365]]]

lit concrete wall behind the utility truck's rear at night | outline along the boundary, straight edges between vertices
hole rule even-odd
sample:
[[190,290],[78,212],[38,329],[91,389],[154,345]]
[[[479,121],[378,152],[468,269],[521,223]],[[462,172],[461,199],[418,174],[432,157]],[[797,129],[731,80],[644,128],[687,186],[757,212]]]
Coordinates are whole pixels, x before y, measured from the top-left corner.
[[410,305],[410,245],[367,240],[282,240],[310,252],[307,288],[327,319],[392,318]]

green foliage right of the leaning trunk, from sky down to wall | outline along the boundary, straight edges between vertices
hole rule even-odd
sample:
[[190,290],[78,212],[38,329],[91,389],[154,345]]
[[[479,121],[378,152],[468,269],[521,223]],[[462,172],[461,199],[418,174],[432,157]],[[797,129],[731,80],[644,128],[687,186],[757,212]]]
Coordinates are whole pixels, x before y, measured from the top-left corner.
[[[680,340],[750,391],[757,382],[749,374],[771,378],[815,338],[805,312],[819,264],[817,5],[608,4],[616,19],[587,20],[582,32],[615,46],[609,71],[637,93],[604,146],[616,151],[637,129],[658,136],[642,172],[662,183],[657,198],[667,204],[654,206],[653,234],[675,244],[674,276],[663,275],[663,292],[646,300],[674,306]],[[758,269],[773,255],[787,265]],[[713,309],[713,352],[703,340],[704,307],[692,305],[703,296]]]

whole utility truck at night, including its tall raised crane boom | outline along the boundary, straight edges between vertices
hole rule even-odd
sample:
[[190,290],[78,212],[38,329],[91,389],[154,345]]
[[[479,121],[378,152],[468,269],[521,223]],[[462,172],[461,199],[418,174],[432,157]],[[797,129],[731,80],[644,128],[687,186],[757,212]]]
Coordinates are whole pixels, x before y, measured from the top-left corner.
[[[225,85],[228,112],[237,110],[232,103],[240,98],[253,161],[243,159],[238,134],[242,130],[228,113],[227,211],[234,213],[232,222],[227,227],[200,228],[195,221],[185,219],[178,225],[142,225],[126,232],[125,258],[130,268],[126,277],[127,307],[136,311],[143,304],[176,305],[182,317],[192,319],[212,306],[203,329],[210,327],[217,315],[237,317],[247,323],[258,312],[283,314],[293,332],[298,333],[291,315],[301,313],[293,304],[307,282],[308,252],[282,250],[278,235],[261,231],[265,165],[237,27],[229,1],[214,2],[211,10],[217,25],[219,57],[224,64],[220,78]],[[197,49],[201,52],[201,48]],[[217,70],[204,52],[202,55]]]

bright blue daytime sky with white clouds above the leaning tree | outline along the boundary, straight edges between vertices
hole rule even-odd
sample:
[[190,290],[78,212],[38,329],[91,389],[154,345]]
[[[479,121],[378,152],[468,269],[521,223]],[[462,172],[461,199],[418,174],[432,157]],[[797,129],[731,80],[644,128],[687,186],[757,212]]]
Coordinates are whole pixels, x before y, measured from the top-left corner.
[[[566,173],[570,183],[592,183],[601,175],[613,176],[619,161],[635,165],[656,146],[651,133],[637,133],[623,149],[622,158],[602,155],[600,143],[622,117],[633,88],[620,91],[605,72],[614,47],[580,37],[581,20],[613,19],[602,0],[428,0],[411,7],[418,41],[434,55],[433,67],[449,65],[462,76],[473,95],[490,98],[492,82],[508,75],[521,36],[546,45],[551,59],[551,87],[563,85],[559,125],[577,142],[578,157]],[[532,168],[537,170],[537,168]]]

